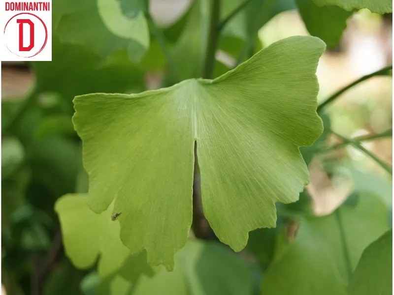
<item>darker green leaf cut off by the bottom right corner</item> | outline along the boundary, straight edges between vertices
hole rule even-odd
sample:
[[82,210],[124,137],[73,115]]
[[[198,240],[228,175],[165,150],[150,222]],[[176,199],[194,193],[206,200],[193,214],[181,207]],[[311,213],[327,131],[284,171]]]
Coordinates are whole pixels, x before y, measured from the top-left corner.
[[349,285],[350,295],[392,294],[392,236],[390,230],[364,250]]

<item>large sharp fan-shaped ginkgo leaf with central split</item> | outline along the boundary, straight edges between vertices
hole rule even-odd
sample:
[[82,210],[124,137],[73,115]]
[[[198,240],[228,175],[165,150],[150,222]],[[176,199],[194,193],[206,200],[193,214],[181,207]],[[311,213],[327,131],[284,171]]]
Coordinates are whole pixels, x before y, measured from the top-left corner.
[[115,200],[124,244],[171,269],[192,223],[198,159],[205,217],[221,241],[243,249],[249,231],[275,226],[275,202],[295,202],[308,183],[298,147],[322,133],[315,71],[324,49],[295,36],[215,80],[77,96],[89,206],[102,212]]

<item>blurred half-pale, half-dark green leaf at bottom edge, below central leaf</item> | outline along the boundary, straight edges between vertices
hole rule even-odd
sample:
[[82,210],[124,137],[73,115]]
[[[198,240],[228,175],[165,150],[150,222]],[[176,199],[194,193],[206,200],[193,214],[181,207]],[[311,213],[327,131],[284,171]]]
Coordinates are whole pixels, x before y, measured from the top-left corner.
[[252,274],[245,262],[215,242],[189,241],[175,255],[174,271],[141,277],[133,295],[251,295]]

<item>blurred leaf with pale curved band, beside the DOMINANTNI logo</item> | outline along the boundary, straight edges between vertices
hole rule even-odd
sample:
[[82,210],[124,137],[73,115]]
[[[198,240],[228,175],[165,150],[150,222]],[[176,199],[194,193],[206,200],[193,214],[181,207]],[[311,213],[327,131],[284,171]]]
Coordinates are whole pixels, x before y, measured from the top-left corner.
[[134,42],[141,45],[141,50],[149,47],[149,30],[142,12],[128,18],[117,0],[87,0],[83,4],[57,0],[53,7],[54,35],[63,43],[83,45],[102,57],[127,49]]

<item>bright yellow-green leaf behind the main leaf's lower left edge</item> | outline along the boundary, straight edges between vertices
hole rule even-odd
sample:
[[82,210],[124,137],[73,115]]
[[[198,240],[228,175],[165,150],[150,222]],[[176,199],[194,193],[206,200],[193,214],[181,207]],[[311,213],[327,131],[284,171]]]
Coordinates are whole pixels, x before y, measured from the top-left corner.
[[60,198],[55,205],[62,226],[66,255],[72,263],[79,268],[87,268],[100,255],[98,270],[102,277],[121,270],[126,263],[134,269],[125,275],[131,281],[140,273],[152,275],[152,270],[146,264],[146,254],[141,252],[131,256],[129,248],[122,244],[119,223],[111,218],[112,206],[96,214],[86,201],[86,194],[69,194]]

